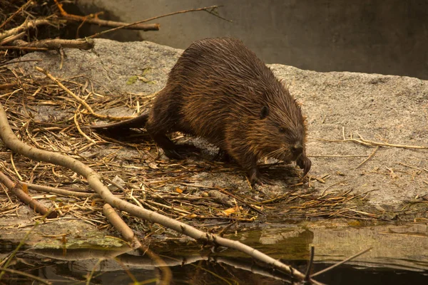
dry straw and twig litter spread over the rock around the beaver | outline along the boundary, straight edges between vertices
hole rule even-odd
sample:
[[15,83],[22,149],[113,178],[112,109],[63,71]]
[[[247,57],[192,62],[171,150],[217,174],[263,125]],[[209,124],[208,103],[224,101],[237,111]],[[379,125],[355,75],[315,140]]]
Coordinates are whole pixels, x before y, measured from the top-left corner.
[[[349,206],[351,200],[364,199],[365,195],[330,191],[317,195],[312,187],[307,187],[307,182],[289,185],[290,191],[284,195],[264,197],[263,200],[254,199],[251,194],[255,190],[251,190],[249,186],[246,190],[224,190],[202,185],[195,178],[200,172],[234,173],[242,170],[236,165],[224,165],[204,159],[162,160],[158,148],[144,132],[133,133],[134,137],[126,135],[126,141],[112,140],[93,133],[88,126],[95,120],[94,116],[82,108],[81,102],[42,74],[33,78],[6,67],[1,68],[0,72],[6,81],[0,86],[0,100],[16,135],[29,145],[71,155],[86,163],[103,175],[110,183],[113,193],[121,199],[156,210],[168,217],[185,219],[195,226],[201,224],[201,221],[205,221],[202,224],[210,225],[235,221],[252,222],[255,219],[265,219],[265,214],[269,218],[278,209],[286,209],[282,210],[281,217],[297,220],[315,217],[379,218]],[[81,84],[75,79],[68,78],[61,82],[93,110],[136,109],[137,105],[143,109],[150,105],[154,97],[135,94],[101,95],[91,88],[91,81]],[[185,139],[182,135],[177,138]],[[73,197],[49,195],[49,202],[46,194],[31,190],[32,197],[44,199],[61,211],[59,219],[77,217],[97,227],[108,227],[101,214],[101,198],[79,197],[81,192],[91,192],[82,177],[63,167],[11,154],[4,148],[1,149],[0,157],[1,170],[14,180],[76,192]],[[325,182],[327,178],[317,180]],[[311,179],[311,184],[317,180]],[[219,199],[218,193],[223,198]],[[2,203],[4,207],[0,214],[12,214],[19,201],[5,195],[0,197],[5,202]],[[150,227],[137,219],[124,218],[129,219],[128,224],[133,224],[134,227],[141,229],[142,226],[150,230]],[[206,222],[207,219],[210,222]],[[136,223],[140,223],[140,226]]]

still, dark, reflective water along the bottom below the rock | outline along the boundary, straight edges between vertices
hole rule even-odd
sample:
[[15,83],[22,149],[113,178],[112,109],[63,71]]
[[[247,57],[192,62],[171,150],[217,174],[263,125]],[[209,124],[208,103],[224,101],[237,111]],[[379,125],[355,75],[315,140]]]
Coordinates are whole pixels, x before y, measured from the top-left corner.
[[[283,225],[231,235],[255,249],[305,272],[310,246],[315,247],[312,273],[327,268],[362,249],[370,252],[316,276],[325,284],[428,284],[428,235],[424,224],[364,227],[360,229],[307,229]],[[399,233],[392,234],[392,233]],[[358,237],[358,238],[356,238]],[[17,244],[0,241],[5,260]],[[183,239],[152,244],[150,249],[168,264],[171,284],[289,284],[290,277],[230,249],[213,253],[209,247]],[[155,261],[127,246],[80,244],[67,249],[27,247],[16,253],[8,267],[39,276],[52,284],[156,284],[162,271]],[[0,284],[33,283],[6,273]]]

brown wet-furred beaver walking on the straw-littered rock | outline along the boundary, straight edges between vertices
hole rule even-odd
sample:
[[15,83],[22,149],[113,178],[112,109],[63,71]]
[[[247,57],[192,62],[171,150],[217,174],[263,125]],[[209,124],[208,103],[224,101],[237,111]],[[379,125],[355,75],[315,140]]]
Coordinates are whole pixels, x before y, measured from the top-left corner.
[[148,114],[94,129],[142,128],[180,158],[168,133],[205,138],[233,157],[252,183],[263,182],[257,162],[273,157],[310,170],[300,105],[270,68],[235,38],[192,43],[171,69]]

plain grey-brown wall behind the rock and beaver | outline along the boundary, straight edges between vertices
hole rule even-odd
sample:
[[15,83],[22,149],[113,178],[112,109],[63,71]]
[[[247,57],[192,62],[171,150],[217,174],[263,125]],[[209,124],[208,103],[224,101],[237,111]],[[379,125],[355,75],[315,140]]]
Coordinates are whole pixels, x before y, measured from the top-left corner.
[[[118,3],[121,4],[118,4]],[[172,11],[223,5],[223,21],[206,12],[164,19],[161,31],[113,38],[186,48],[192,41],[234,36],[266,63],[315,71],[358,71],[428,79],[428,1],[402,0],[80,0],[83,12],[138,21]],[[93,5],[98,6],[94,8]],[[127,35],[127,36],[124,36]]]

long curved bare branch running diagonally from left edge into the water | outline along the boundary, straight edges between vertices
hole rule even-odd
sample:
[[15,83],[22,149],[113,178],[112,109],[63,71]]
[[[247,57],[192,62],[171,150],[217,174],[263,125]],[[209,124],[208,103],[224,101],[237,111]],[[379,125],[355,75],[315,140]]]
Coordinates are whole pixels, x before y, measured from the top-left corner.
[[[276,259],[272,259],[272,257],[268,257],[266,254],[254,249],[253,247],[249,247],[248,245],[242,244],[238,241],[233,241],[230,239],[225,239],[223,237],[219,237],[216,234],[211,234],[208,232],[202,232],[195,227],[191,227],[188,224],[183,222],[178,222],[175,219],[171,219],[169,217],[165,217],[162,214],[158,214],[157,212],[149,211],[144,209],[143,207],[138,207],[135,204],[131,204],[122,199],[115,197],[108,188],[103,185],[101,182],[101,176],[98,175],[97,172],[93,171],[91,167],[88,167],[78,160],[73,159],[72,157],[68,157],[66,155],[61,155],[58,152],[49,152],[46,150],[39,150],[36,147],[31,147],[26,145],[24,142],[21,142],[16,135],[11,130],[11,127],[8,123],[6,113],[4,112],[4,108],[0,105],[0,135],[1,138],[6,145],[14,152],[18,152],[21,155],[29,157],[31,160],[36,161],[44,161],[53,163],[55,165],[60,165],[63,167],[67,167],[70,170],[82,175],[88,181],[88,185],[96,192],[101,198],[112,207],[115,207],[121,211],[128,212],[134,217],[139,217],[141,219],[146,219],[149,222],[155,222],[158,224],[167,227],[168,229],[173,229],[175,232],[180,234],[185,234],[188,237],[192,237],[196,239],[198,242],[203,244],[213,244],[215,246],[223,246],[228,247],[230,249],[236,249],[240,252],[248,254],[250,257],[263,261],[265,264],[269,264],[276,269],[280,269],[285,271],[287,274],[294,276],[296,279],[303,280],[305,279],[305,275],[300,271],[293,269],[291,266],[287,266],[282,264],[282,262],[277,261]],[[310,280],[312,284],[320,284],[317,281]]]

